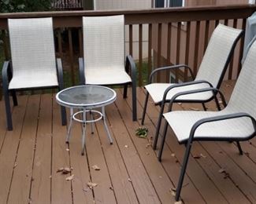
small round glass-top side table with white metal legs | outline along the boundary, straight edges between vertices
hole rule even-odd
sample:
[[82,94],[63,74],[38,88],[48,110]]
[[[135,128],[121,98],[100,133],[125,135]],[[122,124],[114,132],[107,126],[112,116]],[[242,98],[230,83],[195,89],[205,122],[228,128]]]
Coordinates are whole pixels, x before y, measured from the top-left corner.
[[[106,125],[105,106],[112,104],[116,98],[117,93],[105,86],[72,86],[58,92],[56,95],[57,103],[70,108],[70,122],[66,142],[69,143],[72,121],[81,122],[83,124],[82,155],[84,155],[86,124],[91,123],[91,133],[93,133],[93,122],[103,119],[109,143],[113,144],[113,139]],[[102,111],[93,110],[96,107],[101,107]],[[81,109],[81,111],[74,113],[73,108]],[[87,113],[90,113],[91,119],[87,119]],[[98,118],[94,118],[93,113],[97,113],[99,115]],[[78,118],[78,115],[82,115],[82,117]]]

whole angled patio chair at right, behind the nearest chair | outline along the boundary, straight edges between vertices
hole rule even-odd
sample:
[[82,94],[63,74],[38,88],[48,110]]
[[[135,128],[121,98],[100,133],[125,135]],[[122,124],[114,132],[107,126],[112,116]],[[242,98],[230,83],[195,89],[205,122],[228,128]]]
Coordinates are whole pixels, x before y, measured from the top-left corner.
[[[155,105],[161,106],[161,111],[158,117],[158,125],[154,137],[153,148],[157,148],[158,134],[161,126],[161,118],[164,111],[165,103],[163,98],[166,98],[166,102],[176,94],[187,90],[203,89],[208,87],[219,88],[221,86],[224,73],[227,70],[228,64],[231,60],[232,53],[236,47],[236,43],[243,35],[243,31],[218,24],[211,35],[210,42],[208,43],[206,52],[202,58],[202,63],[198,69],[198,74],[194,77],[191,68],[185,64],[179,64],[169,67],[160,67],[152,71],[150,75],[150,82],[145,89],[147,89],[146,100],[143,108],[142,125],[147,110],[147,102],[149,95],[154,100]],[[187,69],[191,77],[194,79],[192,82],[175,83],[154,83],[153,77],[159,71],[176,70],[184,68]],[[216,97],[217,92],[204,92],[194,93],[186,96],[179,97],[175,100],[176,103],[202,103],[202,107],[206,111],[205,103],[210,100],[215,100],[218,110],[220,110],[220,104]]]

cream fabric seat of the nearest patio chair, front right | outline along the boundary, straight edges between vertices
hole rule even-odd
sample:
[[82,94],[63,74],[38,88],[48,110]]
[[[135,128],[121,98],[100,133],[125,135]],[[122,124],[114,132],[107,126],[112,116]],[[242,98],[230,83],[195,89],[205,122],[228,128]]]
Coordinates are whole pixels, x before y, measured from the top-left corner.
[[[202,118],[227,115],[235,113],[225,108],[223,111],[172,111],[164,114],[165,119],[172,127],[180,143],[187,141],[192,126]],[[204,140],[230,140],[243,139],[254,133],[250,118],[232,118],[224,121],[202,124],[195,131],[197,139]]]

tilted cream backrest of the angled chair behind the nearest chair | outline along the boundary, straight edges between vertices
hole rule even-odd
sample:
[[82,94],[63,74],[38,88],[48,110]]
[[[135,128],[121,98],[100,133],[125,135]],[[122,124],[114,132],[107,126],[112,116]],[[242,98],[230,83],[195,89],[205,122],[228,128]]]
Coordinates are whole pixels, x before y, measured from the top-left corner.
[[196,80],[203,79],[219,88],[243,31],[218,24],[208,43]]

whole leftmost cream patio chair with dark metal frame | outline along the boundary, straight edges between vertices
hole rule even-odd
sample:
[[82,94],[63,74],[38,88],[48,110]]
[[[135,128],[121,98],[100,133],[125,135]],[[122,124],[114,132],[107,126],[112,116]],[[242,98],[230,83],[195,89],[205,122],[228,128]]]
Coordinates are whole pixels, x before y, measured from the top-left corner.
[[[61,59],[55,59],[52,18],[9,19],[11,61],[2,67],[2,86],[6,104],[7,129],[13,129],[9,93],[17,105],[17,90],[63,89]],[[66,124],[61,107],[62,125]]]

